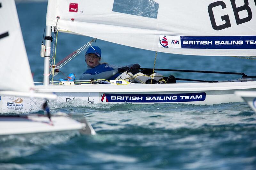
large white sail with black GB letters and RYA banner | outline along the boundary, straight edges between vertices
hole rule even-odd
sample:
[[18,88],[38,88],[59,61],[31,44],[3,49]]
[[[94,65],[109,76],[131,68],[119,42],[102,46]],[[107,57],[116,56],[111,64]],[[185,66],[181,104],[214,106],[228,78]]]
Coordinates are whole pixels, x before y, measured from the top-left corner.
[[[256,54],[254,0],[49,0],[46,25],[186,55]],[[60,19],[57,23],[57,17]]]

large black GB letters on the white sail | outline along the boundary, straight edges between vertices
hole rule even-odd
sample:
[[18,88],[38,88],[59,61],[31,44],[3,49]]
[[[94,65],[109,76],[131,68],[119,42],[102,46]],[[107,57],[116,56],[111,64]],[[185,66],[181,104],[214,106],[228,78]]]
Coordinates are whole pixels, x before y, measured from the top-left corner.
[[[230,0],[232,9],[233,9],[233,12],[234,12],[234,15],[235,15],[235,19],[236,19],[236,24],[239,25],[239,24],[243,24],[245,22],[250,21],[252,19],[252,10],[249,6],[248,0],[244,0],[244,5],[239,6],[239,7],[236,6],[235,1],[236,0]],[[254,0],[254,3],[256,5],[256,0]],[[208,13],[209,13],[210,20],[211,20],[211,23],[212,23],[212,28],[219,31],[219,30],[231,27],[231,23],[230,23],[230,19],[229,19],[228,15],[221,16],[221,20],[225,21],[224,24],[222,24],[222,25],[217,25],[216,24],[216,20],[215,20],[214,14],[213,14],[213,8],[217,7],[217,6],[221,6],[222,9],[227,8],[226,4],[223,1],[214,2],[214,3],[211,3],[208,6]],[[239,12],[240,11],[243,11],[243,12],[246,11],[248,16],[241,19],[239,17]]]

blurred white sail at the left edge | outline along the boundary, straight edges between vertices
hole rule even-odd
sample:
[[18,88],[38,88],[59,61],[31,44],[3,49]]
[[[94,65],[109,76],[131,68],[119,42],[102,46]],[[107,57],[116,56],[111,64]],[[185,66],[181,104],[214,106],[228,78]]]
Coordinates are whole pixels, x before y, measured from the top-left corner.
[[0,90],[28,92],[34,83],[15,2],[0,4]]

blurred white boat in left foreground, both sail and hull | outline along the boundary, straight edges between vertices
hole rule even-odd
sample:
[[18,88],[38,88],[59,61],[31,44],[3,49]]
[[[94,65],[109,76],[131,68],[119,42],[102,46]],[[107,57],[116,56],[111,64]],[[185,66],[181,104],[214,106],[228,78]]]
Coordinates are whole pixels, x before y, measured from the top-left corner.
[[[0,72],[1,78],[8,82],[8,84],[5,81],[0,82],[0,106],[3,105],[4,98],[7,98],[11,100],[7,102],[7,108],[23,111],[23,99],[27,97],[27,100],[41,98],[39,105],[42,108],[43,101],[56,99],[57,96],[51,93],[37,93],[33,90],[33,78],[14,0],[0,2],[0,14],[4,16],[0,18],[0,47],[5,49],[0,51]],[[0,107],[0,136],[73,130],[81,130],[84,134],[95,134],[85,118],[78,122],[66,114],[50,116],[47,102],[44,103],[44,108],[48,116],[3,114]]]

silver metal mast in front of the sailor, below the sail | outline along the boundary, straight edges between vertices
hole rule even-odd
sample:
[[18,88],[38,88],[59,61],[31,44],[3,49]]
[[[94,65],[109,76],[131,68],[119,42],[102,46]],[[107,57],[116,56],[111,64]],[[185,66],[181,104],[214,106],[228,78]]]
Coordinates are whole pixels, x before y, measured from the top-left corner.
[[51,56],[51,40],[46,37],[51,37],[51,26],[46,26],[45,29],[45,55],[44,55],[44,85],[49,85],[50,80],[50,56]]

